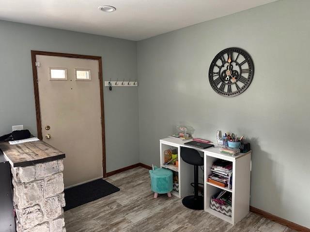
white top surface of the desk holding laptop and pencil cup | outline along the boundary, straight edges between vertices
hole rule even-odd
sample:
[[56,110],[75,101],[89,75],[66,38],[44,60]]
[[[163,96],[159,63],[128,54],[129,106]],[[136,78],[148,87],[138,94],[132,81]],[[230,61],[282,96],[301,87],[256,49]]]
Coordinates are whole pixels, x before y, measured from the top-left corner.
[[192,141],[192,139],[189,139],[189,140],[180,140],[180,139],[173,139],[173,138],[165,138],[165,139],[161,139],[160,140],[161,142],[165,143],[165,144],[170,144],[171,146],[174,145],[179,145],[179,146],[185,146],[185,147],[189,147],[189,148],[193,148],[193,149],[196,149],[198,151],[202,151],[202,152],[207,152],[207,153],[214,153],[216,155],[220,155],[220,156],[223,156],[223,157],[227,157],[227,158],[230,158],[230,159],[234,159],[234,160],[237,160],[243,156],[246,156],[248,155],[249,153],[251,153],[252,151],[248,151],[247,153],[238,153],[237,155],[235,156],[231,156],[231,155],[228,155],[228,154],[223,154],[223,153],[220,153],[219,150],[218,150],[218,146],[216,147],[209,147],[209,148],[206,148],[206,149],[202,149],[202,148],[199,148],[199,147],[195,147],[195,146],[189,146],[189,145],[185,145],[185,143],[187,142],[190,142]]

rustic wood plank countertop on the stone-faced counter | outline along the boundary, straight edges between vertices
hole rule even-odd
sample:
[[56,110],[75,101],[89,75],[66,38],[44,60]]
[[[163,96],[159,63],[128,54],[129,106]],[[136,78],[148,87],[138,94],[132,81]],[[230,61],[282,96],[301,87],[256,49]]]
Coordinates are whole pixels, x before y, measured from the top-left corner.
[[65,158],[65,154],[43,141],[10,145],[0,142],[0,149],[13,167],[25,167]]

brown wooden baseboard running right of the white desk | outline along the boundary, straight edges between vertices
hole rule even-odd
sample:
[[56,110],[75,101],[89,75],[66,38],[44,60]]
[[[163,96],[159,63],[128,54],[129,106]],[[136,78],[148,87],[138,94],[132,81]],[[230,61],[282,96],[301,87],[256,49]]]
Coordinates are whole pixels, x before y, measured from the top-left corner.
[[273,215],[273,214],[270,214],[270,213],[268,213],[268,212],[266,212],[266,211],[263,211],[263,210],[261,210],[261,209],[255,208],[255,207],[253,207],[253,206],[250,206],[250,211],[253,212],[253,213],[255,213],[255,214],[258,214],[258,215],[260,215],[260,216],[262,216],[262,217],[265,217],[265,218],[268,218],[268,219],[270,219],[270,220],[272,220],[272,221],[275,221],[275,222],[277,222],[277,223],[279,223],[279,224],[281,224],[281,225],[284,225],[284,226],[286,226],[286,227],[289,227],[289,228],[291,228],[291,229],[293,229],[293,230],[295,230],[295,231],[299,231],[299,232],[310,232],[310,229],[309,229],[309,228],[306,228],[306,227],[304,227],[304,226],[298,225],[298,224],[296,224],[296,223],[294,223],[294,222],[288,221],[288,220],[283,219],[283,218],[281,218],[281,217],[275,216],[275,215]]

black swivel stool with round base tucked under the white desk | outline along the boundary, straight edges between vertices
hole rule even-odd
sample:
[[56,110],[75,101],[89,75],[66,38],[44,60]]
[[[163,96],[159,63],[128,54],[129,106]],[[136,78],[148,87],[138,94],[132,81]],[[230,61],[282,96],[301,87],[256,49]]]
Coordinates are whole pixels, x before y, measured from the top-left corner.
[[184,162],[194,165],[194,190],[195,195],[183,198],[182,203],[189,209],[203,209],[203,197],[198,196],[198,168],[203,165],[203,158],[195,149],[181,147],[181,158]]

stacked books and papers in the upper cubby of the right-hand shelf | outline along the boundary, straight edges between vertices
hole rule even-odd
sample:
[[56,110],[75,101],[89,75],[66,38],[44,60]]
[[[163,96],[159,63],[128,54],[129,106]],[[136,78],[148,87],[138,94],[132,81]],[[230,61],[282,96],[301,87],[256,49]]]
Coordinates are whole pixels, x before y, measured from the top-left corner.
[[217,160],[211,167],[211,172],[208,176],[208,182],[220,187],[232,188],[233,163],[226,160]]

